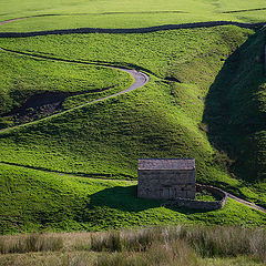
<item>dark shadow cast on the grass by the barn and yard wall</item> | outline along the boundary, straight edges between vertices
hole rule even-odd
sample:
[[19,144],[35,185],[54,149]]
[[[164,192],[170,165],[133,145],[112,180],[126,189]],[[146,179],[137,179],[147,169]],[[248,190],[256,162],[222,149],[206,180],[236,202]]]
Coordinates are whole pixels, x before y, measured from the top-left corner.
[[[164,201],[139,198],[136,195],[136,185],[115,186],[105,188],[90,196],[91,206],[108,206],[123,212],[139,213],[149,208],[157,208]],[[184,207],[168,206],[165,207],[182,214],[204,213],[202,209],[188,209]]]

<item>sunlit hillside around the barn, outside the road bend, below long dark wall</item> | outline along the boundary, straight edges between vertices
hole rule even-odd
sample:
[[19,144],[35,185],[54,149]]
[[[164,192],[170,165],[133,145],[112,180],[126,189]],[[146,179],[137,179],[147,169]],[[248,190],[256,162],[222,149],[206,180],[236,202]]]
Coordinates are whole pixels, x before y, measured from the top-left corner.
[[[151,74],[147,85],[130,94],[1,133],[1,162],[10,164],[1,164],[6,198],[1,213],[13,217],[1,217],[2,233],[178,223],[264,225],[265,214],[234,201],[221,211],[207,213],[170,209],[156,201],[137,200],[135,183],[122,181],[136,178],[139,157],[195,157],[200,182],[265,204],[264,183],[256,187],[243,182],[241,175],[231,175],[229,158],[211,145],[209,133],[202,123],[204,99],[208,99],[211,85],[225,68],[224,60],[238,47],[260,43],[263,35],[264,32],[254,35],[250,30],[218,27],[145,35],[2,39],[1,45],[12,50],[114,62],[145,69]],[[162,50],[158,43],[167,49]],[[154,49],[149,53],[151,45]],[[167,81],[170,78],[181,83]]]

